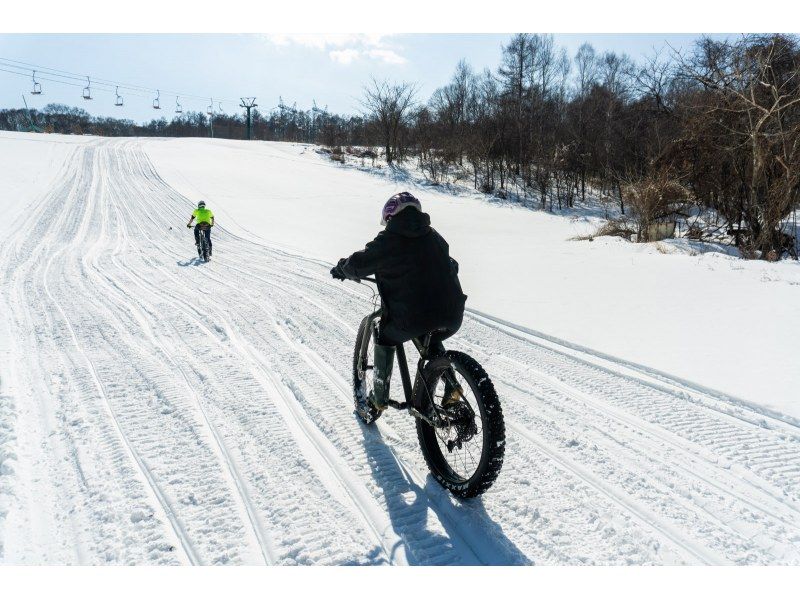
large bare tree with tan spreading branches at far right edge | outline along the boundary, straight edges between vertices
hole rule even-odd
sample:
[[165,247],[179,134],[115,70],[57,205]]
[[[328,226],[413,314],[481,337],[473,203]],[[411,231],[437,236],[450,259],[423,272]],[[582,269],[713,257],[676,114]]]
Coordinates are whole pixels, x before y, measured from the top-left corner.
[[680,61],[697,85],[688,98],[692,147],[733,174],[715,207],[739,223],[737,241],[767,257],[781,248],[781,221],[800,194],[800,46],[785,35],[706,38]]

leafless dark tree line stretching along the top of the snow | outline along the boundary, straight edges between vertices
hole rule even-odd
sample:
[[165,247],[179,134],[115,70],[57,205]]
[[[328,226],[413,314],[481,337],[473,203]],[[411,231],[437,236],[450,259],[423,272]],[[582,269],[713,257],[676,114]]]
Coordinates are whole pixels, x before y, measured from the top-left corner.
[[[787,219],[800,196],[799,67],[791,35],[704,37],[636,62],[589,44],[569,56],[550,35],[522,33],[496,69],[476,72],[462,61],[425,101],[413,83],[373,80],[361,114],[281,101],[253,111],[253,135],[380,148],[389,165],[413,160],[435,183],[468,182],[548,210],[601,197],[616,206],[619,230],[640,240],[651,224],[680,218],[690,237],[729,239],[747,256],[771,259],[795,246]],[[138,124],[55,104],[2,110],[0,128],[246,135],[242,114],[185,112]]]

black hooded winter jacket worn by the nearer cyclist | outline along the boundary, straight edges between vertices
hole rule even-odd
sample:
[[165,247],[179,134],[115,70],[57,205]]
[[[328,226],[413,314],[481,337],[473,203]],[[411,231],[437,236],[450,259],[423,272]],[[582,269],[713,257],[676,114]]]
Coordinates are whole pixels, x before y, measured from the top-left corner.
[[406,208],[341,264],[349,278],[375,275],[383,301],[381,343],[398,344],[437,328],[461,326],[466,295],[458,263],[430,216]]

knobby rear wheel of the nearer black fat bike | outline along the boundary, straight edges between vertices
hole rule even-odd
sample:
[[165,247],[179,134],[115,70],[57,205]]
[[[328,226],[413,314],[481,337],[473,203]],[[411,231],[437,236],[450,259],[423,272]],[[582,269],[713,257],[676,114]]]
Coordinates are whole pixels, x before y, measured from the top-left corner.
[[[460,498],[483,494],[497,479],[505,454],[505,422],[492,381],[477,361],[459,351],[429,362],[423,379],[436,411],[450,422],[434,427],[417,419],[417,438],[431,474]],[[443,407],[448,395],[458,399]]]

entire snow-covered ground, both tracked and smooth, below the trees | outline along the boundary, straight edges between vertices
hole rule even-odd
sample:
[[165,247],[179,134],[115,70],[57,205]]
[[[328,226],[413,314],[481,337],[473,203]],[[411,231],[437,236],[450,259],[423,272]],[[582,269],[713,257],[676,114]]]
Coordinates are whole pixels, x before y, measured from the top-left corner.
[[462,503],[408,416],[351,409],[370,295],[328,269],[407,184],[299,145],[0,134],[0,561],[800,564],[796,264],[415,188],[477,310],[449,346],[506,414]]

